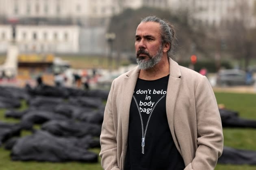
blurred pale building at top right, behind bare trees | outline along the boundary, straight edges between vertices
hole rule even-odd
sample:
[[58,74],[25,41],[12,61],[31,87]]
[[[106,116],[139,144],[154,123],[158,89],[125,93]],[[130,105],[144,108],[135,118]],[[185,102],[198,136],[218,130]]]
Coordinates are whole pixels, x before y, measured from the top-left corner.
[[256,0],[169,0],[170,8],[189,12],[191,24],[219,27],[235,19],[245,19],[256,27]]

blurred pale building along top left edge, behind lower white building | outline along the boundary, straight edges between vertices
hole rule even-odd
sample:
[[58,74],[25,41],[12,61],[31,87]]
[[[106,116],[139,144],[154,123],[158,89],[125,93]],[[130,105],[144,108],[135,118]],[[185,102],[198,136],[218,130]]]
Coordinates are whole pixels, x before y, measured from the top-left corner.
[[120,12],[119,0],[0,0],[0,15],[12,17],[110,17]]

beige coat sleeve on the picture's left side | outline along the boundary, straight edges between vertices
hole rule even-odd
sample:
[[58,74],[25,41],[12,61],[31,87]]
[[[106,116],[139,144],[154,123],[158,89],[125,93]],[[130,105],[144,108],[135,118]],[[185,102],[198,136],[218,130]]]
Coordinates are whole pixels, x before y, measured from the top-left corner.
[[108,94],[100,134],[100,157],[102,157],[101,165],[104,170],[119,170],[117,165],[117,140],[112,112],[113,90],[114,81],[112,82],[111,90]]

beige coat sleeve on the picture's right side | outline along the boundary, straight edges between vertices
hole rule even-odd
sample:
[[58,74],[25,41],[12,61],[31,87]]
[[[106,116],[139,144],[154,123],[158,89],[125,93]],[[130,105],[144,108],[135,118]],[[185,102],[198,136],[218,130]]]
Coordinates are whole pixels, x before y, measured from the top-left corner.
[[221,118],[213,89],[204,76],[195,89],[197,150],[185,170],[214,170],[223,151]]

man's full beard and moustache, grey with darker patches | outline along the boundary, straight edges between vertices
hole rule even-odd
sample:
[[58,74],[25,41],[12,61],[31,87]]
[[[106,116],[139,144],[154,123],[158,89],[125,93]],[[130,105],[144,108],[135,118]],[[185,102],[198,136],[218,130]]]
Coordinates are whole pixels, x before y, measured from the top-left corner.
[[[148,59],[145,60],[145,57],[139,57],[140,54],[148,55]],[[158,64],[158,62],[160,62],[163,56],[163,46],[160,45],[156,55],[154,56],[151,56],[147,51],[144,51],[143,49],[137,51],[136,55],[136,61],[137,64],[139,65],[139,69],[147,70],[149,68],[154,67],[156,64]]]

